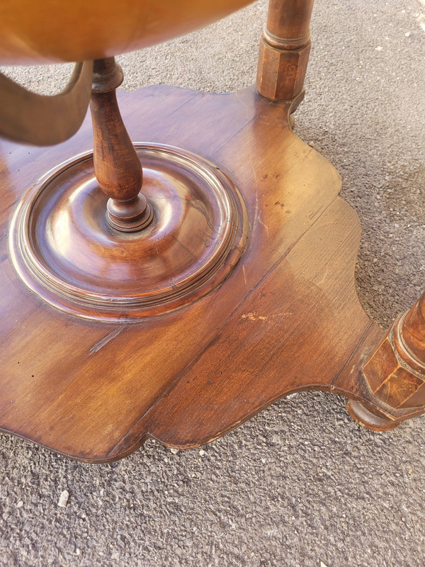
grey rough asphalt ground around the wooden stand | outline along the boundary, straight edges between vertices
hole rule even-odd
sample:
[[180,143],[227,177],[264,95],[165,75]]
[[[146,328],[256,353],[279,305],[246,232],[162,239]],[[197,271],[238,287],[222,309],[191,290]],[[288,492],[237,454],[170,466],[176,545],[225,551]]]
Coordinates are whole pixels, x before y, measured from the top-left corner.
[[[424,4],[317,0],[296,114],[361,218],[358,294],[382,327],[423,288]],[[261,0],[120,57],[123,86],[247,86],[265,18]],[[7,72],[52,92],[69,67]],[[424,437],[425,418],[373,433],[322,393],[276,403],[203,449],[149,441],[100,466],[1,435],[0,565],[423,567]]]

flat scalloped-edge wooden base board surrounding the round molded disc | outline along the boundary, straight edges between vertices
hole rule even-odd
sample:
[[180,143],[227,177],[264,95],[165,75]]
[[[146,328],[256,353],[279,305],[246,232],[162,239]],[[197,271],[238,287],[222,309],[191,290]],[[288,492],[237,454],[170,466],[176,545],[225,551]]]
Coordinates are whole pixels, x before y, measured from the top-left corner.
[[90,123],[55,148],[1,142],[1,430],[101,462],[147,437],[205,444],[294,391],[342,393],[381,430],[421,412],[389,409],[361,371],[384,333],[356,296],[360,225],[334,167],[288,127],[297,101],[170,86],[119,101],[134,142],[182,148],[228,176],[246,245],[217,286],[137,322],[53,307],[13,267],[9,225],[40,177],[91,150]]

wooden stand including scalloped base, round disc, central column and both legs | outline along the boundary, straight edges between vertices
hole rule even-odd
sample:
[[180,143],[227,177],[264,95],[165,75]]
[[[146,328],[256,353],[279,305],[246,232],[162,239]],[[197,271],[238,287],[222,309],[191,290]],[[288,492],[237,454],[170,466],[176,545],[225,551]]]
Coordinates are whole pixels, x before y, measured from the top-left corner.
[[101,462],[295,391],[373,430],[424,412],[425,296],[388,333],[365,315],[358,218],[291,129],[311,10],[270,1],[258,92],[120,93],[129,135],[96,60],[93,152],[87,120],[54,150],[1,142],[1,430]]

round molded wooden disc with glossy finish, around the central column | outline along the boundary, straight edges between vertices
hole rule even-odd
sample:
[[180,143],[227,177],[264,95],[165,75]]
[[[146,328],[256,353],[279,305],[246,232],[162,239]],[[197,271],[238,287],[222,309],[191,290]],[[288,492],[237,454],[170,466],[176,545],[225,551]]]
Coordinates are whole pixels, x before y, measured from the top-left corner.
[[217,287],[244,251],[246,209],[220,169],[175,147],[135,147],[154,213],[147,228],[107,222],[92,153],[50,171],[16,210],[13,264],[56,308],[115,322],[164,313]]

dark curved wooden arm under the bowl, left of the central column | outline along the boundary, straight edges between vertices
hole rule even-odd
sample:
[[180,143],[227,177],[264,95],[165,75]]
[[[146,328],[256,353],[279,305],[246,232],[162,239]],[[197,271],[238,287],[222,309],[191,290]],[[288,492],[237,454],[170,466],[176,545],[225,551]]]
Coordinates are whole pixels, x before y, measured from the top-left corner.
[[14,142],[53,145],[74,135],[86,116],[93,62],[77,63],[65,89],[42,96],[0,74],[0,135]]

